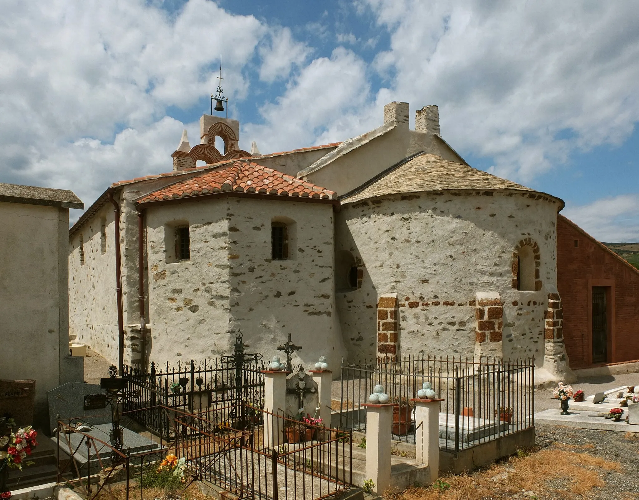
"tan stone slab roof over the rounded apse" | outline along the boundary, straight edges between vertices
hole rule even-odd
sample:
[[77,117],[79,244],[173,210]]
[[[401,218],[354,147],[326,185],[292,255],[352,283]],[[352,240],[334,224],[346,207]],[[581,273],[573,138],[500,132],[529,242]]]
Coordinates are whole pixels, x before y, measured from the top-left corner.
[[399,162],[387,172],[382,172],[382,175],[346,193],[341,199],[343,203],[353,203],[390,194],[447,190],[516,190],[539,193],[483,170],[473,169],[469,165],[422,153]]

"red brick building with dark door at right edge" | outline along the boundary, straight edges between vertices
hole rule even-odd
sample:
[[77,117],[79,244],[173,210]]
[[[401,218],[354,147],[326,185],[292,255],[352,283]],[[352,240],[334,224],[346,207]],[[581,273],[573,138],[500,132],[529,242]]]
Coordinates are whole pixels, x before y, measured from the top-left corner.
[[639,360],[639,270],[562,215],[557,288],[571,368]]

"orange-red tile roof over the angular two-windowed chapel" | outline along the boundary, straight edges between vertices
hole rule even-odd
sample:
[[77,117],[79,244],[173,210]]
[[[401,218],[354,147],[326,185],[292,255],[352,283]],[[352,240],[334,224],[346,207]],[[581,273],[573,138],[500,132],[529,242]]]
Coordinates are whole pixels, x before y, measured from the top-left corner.
[[194,178],[177,182],[136,200],[136,203],[184,199],[213,193],[262,193],[277,196],[298,196],[323,200],[335,199],[335,192],[293,176],[282,174],[257,163],[235,160],[233,165],[220,167]]

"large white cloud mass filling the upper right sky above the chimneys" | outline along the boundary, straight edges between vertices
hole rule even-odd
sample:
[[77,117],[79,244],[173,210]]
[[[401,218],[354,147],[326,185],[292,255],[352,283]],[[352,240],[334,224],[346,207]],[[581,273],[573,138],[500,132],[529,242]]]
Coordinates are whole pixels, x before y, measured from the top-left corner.
[[[442,133],[528,181],[639,120],[639,17],[622,3],[369,0],[391,34],[395,98],[440,105]],[[570,130],[567,139],[557,134]]]

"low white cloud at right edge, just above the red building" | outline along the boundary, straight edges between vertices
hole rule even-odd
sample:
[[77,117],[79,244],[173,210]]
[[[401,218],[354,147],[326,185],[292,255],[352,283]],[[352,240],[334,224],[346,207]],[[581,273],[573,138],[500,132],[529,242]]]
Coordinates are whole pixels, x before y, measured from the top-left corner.
[[639,241],[639,194],[599,199],[582,206],[566,206],[562,215],[599,241]]

